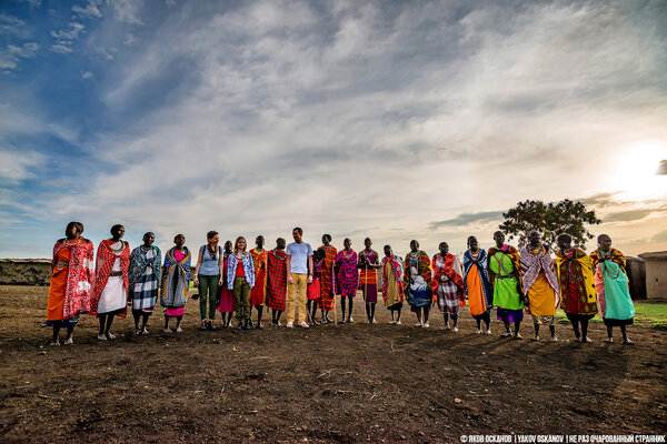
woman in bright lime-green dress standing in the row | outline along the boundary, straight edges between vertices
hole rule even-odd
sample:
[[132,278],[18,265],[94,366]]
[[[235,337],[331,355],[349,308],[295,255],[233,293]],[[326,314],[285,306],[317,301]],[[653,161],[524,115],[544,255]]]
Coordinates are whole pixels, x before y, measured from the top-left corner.
[[[489,249],[489,284],[494,294],[494,305],[498,307],[498,320],[505,325],[500,336],[522,340],[519,334],[524,320],[524,290],[521,289],[521,265],[519,252],[511,245],[505,244],[501,231],[494,233],[496,246]],[[509,324],[514,323],[514,334]]]

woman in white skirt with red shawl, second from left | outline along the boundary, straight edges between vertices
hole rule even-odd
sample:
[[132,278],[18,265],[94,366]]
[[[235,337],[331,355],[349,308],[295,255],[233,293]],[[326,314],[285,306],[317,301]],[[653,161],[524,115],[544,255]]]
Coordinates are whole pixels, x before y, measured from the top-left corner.
[[122,241],[123,234],[125,226],[113,225],[111,239],[98,246],[89,314],[97,314],[100,321],[100,341],[116,337],[110,333],[113,316],[125,317],[128,311],[130,244]]

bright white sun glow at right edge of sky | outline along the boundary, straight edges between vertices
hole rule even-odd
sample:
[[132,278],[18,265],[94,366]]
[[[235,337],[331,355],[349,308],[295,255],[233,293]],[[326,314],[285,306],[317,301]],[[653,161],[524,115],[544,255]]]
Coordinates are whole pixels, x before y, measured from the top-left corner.
[[667,198],[667,175],[658,174],[667,159],[667,142],[641,140],[629,144],[618,157],[614,185],[628,200]]

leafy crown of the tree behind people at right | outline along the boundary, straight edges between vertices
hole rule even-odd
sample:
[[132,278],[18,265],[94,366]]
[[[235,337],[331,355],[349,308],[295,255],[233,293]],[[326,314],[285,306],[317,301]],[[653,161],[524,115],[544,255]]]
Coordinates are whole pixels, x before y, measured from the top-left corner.
[[518,238],[519,246],[527,243],[528,234],[535,230],[549,246],[556,242],[559,234],[567,233],[573,236],[575,245],[585,249],[586,241],[593,239],[585,225],[597,225],[601,222],[594,210],[587,210],[581,202],[569,199],[551,203],[527,200],[507,210],[502,218],[505,222],[498,228],[509,240]]

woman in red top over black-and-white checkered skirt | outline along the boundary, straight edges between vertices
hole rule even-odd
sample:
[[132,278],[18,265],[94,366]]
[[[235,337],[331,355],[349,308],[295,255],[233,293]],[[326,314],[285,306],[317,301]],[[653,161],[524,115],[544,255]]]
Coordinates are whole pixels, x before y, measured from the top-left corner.
[[438,307],[445,317],[445,325],[441,330],[449,330],[449,317],[454,324],[452,332],[458,332],[458,311],[459,305],[466,304],[466,294],[464,289],[464,279],[461,278],[461,266],[458,259],[449,253],[447,242],[440,242],[438,246],[440,252],[431,260],[434,278],[430,281],[430,287],[434,295],[438,299]]

